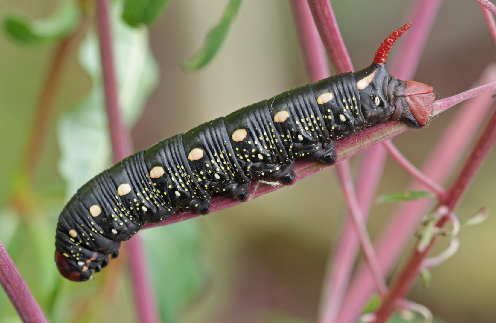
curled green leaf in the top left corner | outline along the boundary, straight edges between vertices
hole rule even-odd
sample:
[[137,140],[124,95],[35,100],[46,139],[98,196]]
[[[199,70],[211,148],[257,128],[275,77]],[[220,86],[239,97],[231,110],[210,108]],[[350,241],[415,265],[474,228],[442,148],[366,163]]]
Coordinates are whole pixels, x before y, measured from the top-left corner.
[[7,14],[3,28],[14,41],[36,45],[67,35],[77,26],[79,17],[77,1],[62,0],[55,12],[46,19],[35,20],[20,14]]

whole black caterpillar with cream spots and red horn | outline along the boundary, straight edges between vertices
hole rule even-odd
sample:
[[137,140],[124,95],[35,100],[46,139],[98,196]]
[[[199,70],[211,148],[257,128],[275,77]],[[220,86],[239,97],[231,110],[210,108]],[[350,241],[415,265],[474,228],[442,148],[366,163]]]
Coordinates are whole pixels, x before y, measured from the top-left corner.
[[62,276],[85,281],[121,242],[177,209],[201,214],[212,194],[240,201],[250,180],[292,184],[300,158],[333,164],[336,140],[402,120],[426,125],[433,88],[390,75],[387,53],[411,24],[387,37],[370,66],[303,85],[164,139],[116,163],[81,187],[59,217],[55,260]]

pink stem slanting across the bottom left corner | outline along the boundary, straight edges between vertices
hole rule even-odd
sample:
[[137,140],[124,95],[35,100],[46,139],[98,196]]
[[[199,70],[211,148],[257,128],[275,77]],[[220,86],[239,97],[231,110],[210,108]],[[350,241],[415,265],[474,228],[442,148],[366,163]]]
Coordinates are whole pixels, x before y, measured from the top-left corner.
[[28,285],[0,242],[0,284],[24,323],[48,323]]

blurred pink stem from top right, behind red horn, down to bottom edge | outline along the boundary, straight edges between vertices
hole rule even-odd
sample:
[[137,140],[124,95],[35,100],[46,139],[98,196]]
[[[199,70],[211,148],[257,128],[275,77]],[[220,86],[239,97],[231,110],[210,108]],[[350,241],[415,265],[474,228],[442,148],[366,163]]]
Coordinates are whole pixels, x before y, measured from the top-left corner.
[[[414,28],[400,41],[400,49],[396,60],[390,70],[400,79],[412,79],[420,61],[422,52],[429,36],[441,0],[419,0],[415,10],[408,21],[412,21]],[[386,150],[380,145],[374,146],[365,152],[358,176],[357,198],[362,209],[364,221],[367,220],[380,181]],[[342,231],[334,258],[331,261],[331,271],[321,301],[319,322],[334,323],[343,302],[346,288],[353,271],[355,259],[358,255],[358,237],[351,215],[348,217]]]

